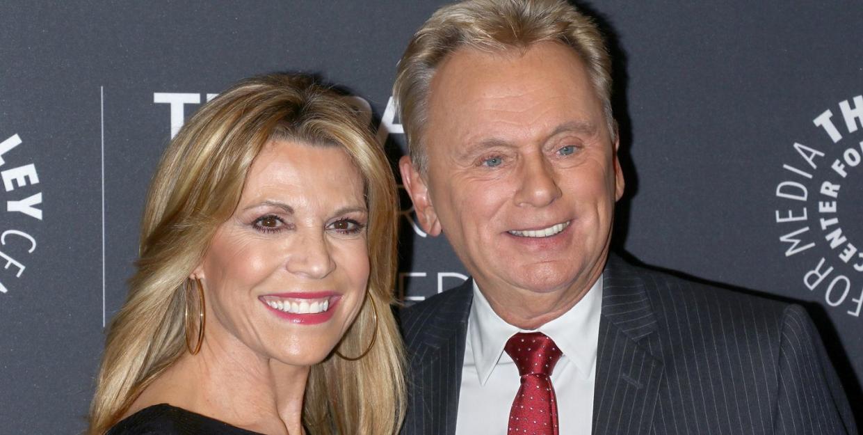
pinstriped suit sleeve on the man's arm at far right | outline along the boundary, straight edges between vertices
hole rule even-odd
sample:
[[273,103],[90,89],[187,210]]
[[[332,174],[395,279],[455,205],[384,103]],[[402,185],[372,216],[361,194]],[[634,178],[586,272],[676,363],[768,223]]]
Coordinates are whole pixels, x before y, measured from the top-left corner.
[[857,434],[839,378],[801,306],[784,312],[773,428],[782,435]]

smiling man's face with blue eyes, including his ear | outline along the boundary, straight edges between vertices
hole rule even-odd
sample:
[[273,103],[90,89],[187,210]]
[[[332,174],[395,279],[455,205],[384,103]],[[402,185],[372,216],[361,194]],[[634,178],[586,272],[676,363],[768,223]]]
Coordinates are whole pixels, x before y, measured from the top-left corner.
[[428,104],[428,172],[401,162],[425,230],[444,232],[492,306],[539,296],[552,306],[525,314],[568,310],[602,273],[623,192],[582,60],[555,42],[462,48]]

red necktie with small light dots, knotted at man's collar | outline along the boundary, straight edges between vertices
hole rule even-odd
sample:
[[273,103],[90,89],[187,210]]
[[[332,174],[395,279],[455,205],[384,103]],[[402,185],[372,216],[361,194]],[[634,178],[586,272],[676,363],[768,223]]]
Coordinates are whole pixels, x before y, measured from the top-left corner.
[[562,355],[541,332],[520,332],[506,347],[521,375],[521,387],[509,412],[509,434],[557,435],[557,400],[551,370]]

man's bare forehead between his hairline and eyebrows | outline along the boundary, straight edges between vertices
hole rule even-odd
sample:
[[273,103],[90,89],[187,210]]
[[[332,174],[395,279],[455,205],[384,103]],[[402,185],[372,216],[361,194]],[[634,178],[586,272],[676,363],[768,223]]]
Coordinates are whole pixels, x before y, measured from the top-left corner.
[[557,42],[507,52],[463,47],[438,69],[428,103],[429,154],[439,145],[472,154],[562,134],[595,137],[606,125],[583,62]]

